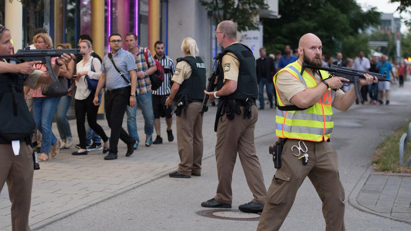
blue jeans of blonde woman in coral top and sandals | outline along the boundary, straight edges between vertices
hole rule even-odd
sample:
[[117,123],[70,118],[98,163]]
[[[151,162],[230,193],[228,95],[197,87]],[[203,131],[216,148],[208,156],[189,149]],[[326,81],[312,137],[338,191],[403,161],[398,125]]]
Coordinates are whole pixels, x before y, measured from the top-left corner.
[[57,142],[51,130],[53,115],[61,97],[33,97],[33,117],[37,129],[42,133],[40,152],[50,153],[50,146]]

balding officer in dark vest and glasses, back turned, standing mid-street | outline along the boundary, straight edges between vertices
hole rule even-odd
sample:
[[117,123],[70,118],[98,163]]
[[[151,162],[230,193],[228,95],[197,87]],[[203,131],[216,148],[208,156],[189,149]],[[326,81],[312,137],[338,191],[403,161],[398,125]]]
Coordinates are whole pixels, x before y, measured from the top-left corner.
[[254,128],[258,114],[255,100],[259,96],[256,61],[252,51],[236,40],[237,28],[232,21],[217,25],[215,35],[224,47],[217,91],[205,92],[210,101],[220,98],[215,130],[217,144],[218,186],[213,199],[201,203],[209,208],[231,208],[231,180],[237,152],[247,184],[254,196],[251,202],[239,206],[243,212],[259,213],[266,201],[266,187],[259,158],[254,146]]

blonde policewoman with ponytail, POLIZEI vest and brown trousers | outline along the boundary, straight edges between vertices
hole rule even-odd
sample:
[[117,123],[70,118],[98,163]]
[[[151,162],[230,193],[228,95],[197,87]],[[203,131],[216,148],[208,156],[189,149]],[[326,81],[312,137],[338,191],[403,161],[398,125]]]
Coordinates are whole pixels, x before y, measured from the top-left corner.
[[203,158],[203,118],[199,110],[202,106],[205,89],[205,64],[198,55],[197,43],[192,38],[182,41],[183,58],[177,59],[177,67],[171,79],[170,96],[166,106],[173,102],[177,109],[177,144],[180,164],[169,176],[173,178],[191,178],[201,175]]

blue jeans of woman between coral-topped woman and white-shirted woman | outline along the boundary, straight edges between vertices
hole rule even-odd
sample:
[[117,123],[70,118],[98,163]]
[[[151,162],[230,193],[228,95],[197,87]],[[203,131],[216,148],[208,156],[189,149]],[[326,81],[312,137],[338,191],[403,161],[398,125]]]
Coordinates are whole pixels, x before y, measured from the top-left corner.
[[67,111],[72,103],[72,96],[63,96],[58,103],[57,110],[55,111],[55,122],[57,124],[58,133],[60,139],[66,141],[66,138],[72,137],[72,131],[70,130],[69,120],[67,120]]

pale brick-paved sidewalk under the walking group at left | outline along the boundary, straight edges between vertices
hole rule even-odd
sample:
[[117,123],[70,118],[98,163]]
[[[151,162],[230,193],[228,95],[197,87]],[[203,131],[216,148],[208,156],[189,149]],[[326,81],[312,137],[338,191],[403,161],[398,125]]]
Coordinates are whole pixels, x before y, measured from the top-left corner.
[[[275,110],[272,109],[272,115]],[[209,107],[203,116],[203,159],[214,156],[216,135],[214,118],[216,107]],[[161,119],[163,144],[145,147],[144,119],[141,110],[137,112],[140,147],[133,155],[125,157],[127,147],[119,141],[118,159],[106,161],[102,150],[89,152],[85,156],[73,156],[74,144],[79,143],[76,120],[69,120],[72,129],[73,146],[61,149],[60,153],[48,162],[40,163],[40,170],[34,171],[30,228],[39,229],[56,220],[72,215],[79,210],[118,196],[131,189],[168,175],[177,169],[180,159],[177,149],[175,117],[173,121],[174,141],[167,141],[165,120]],[[109,127],[106,120],[98,120],[107,135]],[[262,120],[261,122],[262,123]],[[127,129],[127,116],[123,120]],[[258,136],[274,134],[274,125],[260,126]],[[53,132],[58,136],[57,126]],[[155,139],[155,132],[153,139]],[[0,194],[0,230],[11,230],[11,203],[7,185]]]

